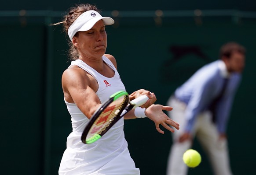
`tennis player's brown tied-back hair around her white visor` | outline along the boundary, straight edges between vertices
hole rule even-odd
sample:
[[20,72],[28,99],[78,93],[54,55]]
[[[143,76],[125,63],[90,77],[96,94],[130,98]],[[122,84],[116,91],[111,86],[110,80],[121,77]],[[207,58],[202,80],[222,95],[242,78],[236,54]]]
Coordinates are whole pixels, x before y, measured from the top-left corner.
[[[70,25],[73,24],[73,22],[84,12],[86,11],[97,11],[100,13],[100,10],[95,6],[91,4],[77,4],[74,7],[69,8],[69,13],[63,16],[63,21],[55,23],[53,25],[63,25],[63,31],[68,35],[68,29]],[[77,33],[75,34],[77,36]],[[73,45],[73,43],[68,39],[69,41],[69,58],[71,60],[78,59],[78,52],[77,48]]]

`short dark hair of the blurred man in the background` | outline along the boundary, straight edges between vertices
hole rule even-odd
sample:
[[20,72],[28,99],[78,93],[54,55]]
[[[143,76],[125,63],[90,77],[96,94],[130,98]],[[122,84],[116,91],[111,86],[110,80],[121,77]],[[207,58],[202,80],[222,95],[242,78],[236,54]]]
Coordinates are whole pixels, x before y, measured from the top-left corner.
[[237,42],[228,42],[224,44],[219,50],[220,59],[223,56],[230,58],[233,52],[239,52],[245,55],[246,49],[244,46],[238,44]]

